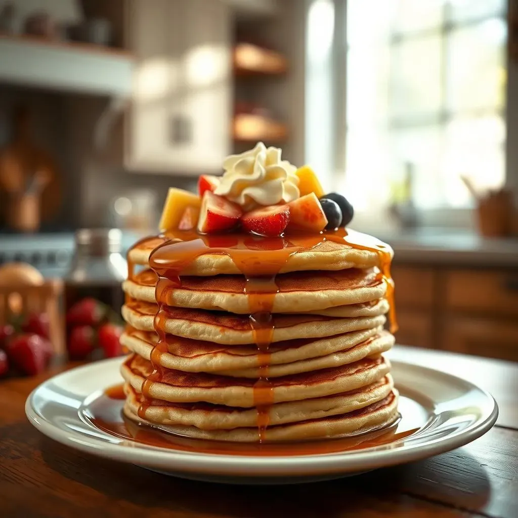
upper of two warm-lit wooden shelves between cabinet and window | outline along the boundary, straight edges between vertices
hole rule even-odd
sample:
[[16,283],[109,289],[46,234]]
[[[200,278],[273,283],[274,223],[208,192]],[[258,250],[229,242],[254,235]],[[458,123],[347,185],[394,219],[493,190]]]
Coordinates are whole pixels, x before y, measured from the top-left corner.
[[237,44],[233,53],[234,75],[280,76],[286,73],[287,61],[282,54],[249,43]]

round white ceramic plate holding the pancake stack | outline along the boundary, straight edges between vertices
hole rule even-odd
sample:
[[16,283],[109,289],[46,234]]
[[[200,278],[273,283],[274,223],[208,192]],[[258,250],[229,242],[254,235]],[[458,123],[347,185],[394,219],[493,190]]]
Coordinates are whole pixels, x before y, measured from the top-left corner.
[[279,484],[338,478],[449,451],[480,437],[494,425],[498,415],[493,397],[472,383],[393,361],[392,372],[401,394],[401,424],[407,430],[417,429],[404,439],[318,455],[239,456],[176,451],[111,435],[85,418],[103,390],[121,382],[120,363],[121,358],[92,363],[42,383],[27,398],[28,419],[56,441],[116,461],[196,480]]

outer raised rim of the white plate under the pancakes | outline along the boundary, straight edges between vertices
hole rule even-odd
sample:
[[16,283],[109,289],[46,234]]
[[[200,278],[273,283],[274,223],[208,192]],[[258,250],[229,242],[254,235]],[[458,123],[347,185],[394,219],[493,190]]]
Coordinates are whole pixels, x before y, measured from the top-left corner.
[[[109,358],[101,362],[104,364],[113,363],[119,365],[123,360],[123,358]],[[136,448],[133,445],[112,443],[97,437],[87,437],[82,435],[79,431],[64,430],[53,424],[44,415],[41,415],[34,407],[33,400],[42,387],[45,387],[51,382],[55,382],[58,378],[70,376],[73,372],[75,372],[76,375],[80,375],[81,371],[88,371],[99,364],[99,362],[95,362],[60,372],[40,383],[28,395],[25,401],[25,414],[28,421],[42,434],[82,452],[95,454],[116,461],[153,466],[155,468],[165,468],[177,472],[203,472],[219,475],[234,474],[249,477],[282,477],[285,476],[286,473],[292,475],[299,474],[299,476],[308,474],[306,472],[294,471],[295,468],[307,468],[310,474],[319,474],[339,471],[365,471],[377,467],[392,466],[430,457],[461,447],[485,434],[496,423],[498,418],[498,404],[495,398],[485,389],[482,389],[464,378],[438,369],[401,361],[399,359],[391,359],[391,363],[403,368],[417,368],[434,373],[434,375],[439,374],[440,376],[450,378],[456,383],[461,382],[469,386],[470,390],[480,392],[486,399],[487,405],[484,405],[484,408],[487,406],[487,409],[489,409],[492,405],[491,411],[486,412],[486,414],[475,423],[470,424],[466,429],[459,431],[453,436],[430,439],[424,444],[409,444],[407,447],[401,449],[365,449],[316,455],[253,456],[178,451],[140,444],[139,447]],[[79,414],[77,414],[77,419],[83,422]],[[107,432],[103,433],[106,434],[106,436],[110,436]]]

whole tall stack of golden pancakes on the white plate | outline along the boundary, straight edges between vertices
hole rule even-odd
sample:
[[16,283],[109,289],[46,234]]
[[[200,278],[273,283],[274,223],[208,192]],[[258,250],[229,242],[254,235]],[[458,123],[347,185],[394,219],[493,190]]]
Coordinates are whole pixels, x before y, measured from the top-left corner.
[[[382,256],[326,241],[286,256],[277,293],[268,296],[265,352],[255,343],[247,279],[225,253],[194,257],[159,313],[149,262],[164,241],[150,238],[128,253],[121,337],[131,351],[122,366],[128,418],[182,436],[241,442],[349,436],[397,419],[382,356],[394,344],[384,330],[389,301],[379,269],[390,247],[380,245]],[[254,253],[257,264],[267,261],[267,251]],[[141,265],[136,274],[133,264]],[[156,325],[164,333],[158,354]],[[263,397],[258,410],[260,391],[269,403]]]

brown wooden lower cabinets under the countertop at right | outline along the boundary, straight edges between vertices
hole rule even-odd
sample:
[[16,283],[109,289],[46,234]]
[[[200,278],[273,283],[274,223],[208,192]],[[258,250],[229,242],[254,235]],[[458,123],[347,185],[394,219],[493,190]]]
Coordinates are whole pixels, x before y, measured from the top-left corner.
[[518,361],[516,268],[398,264],[398,343]]

